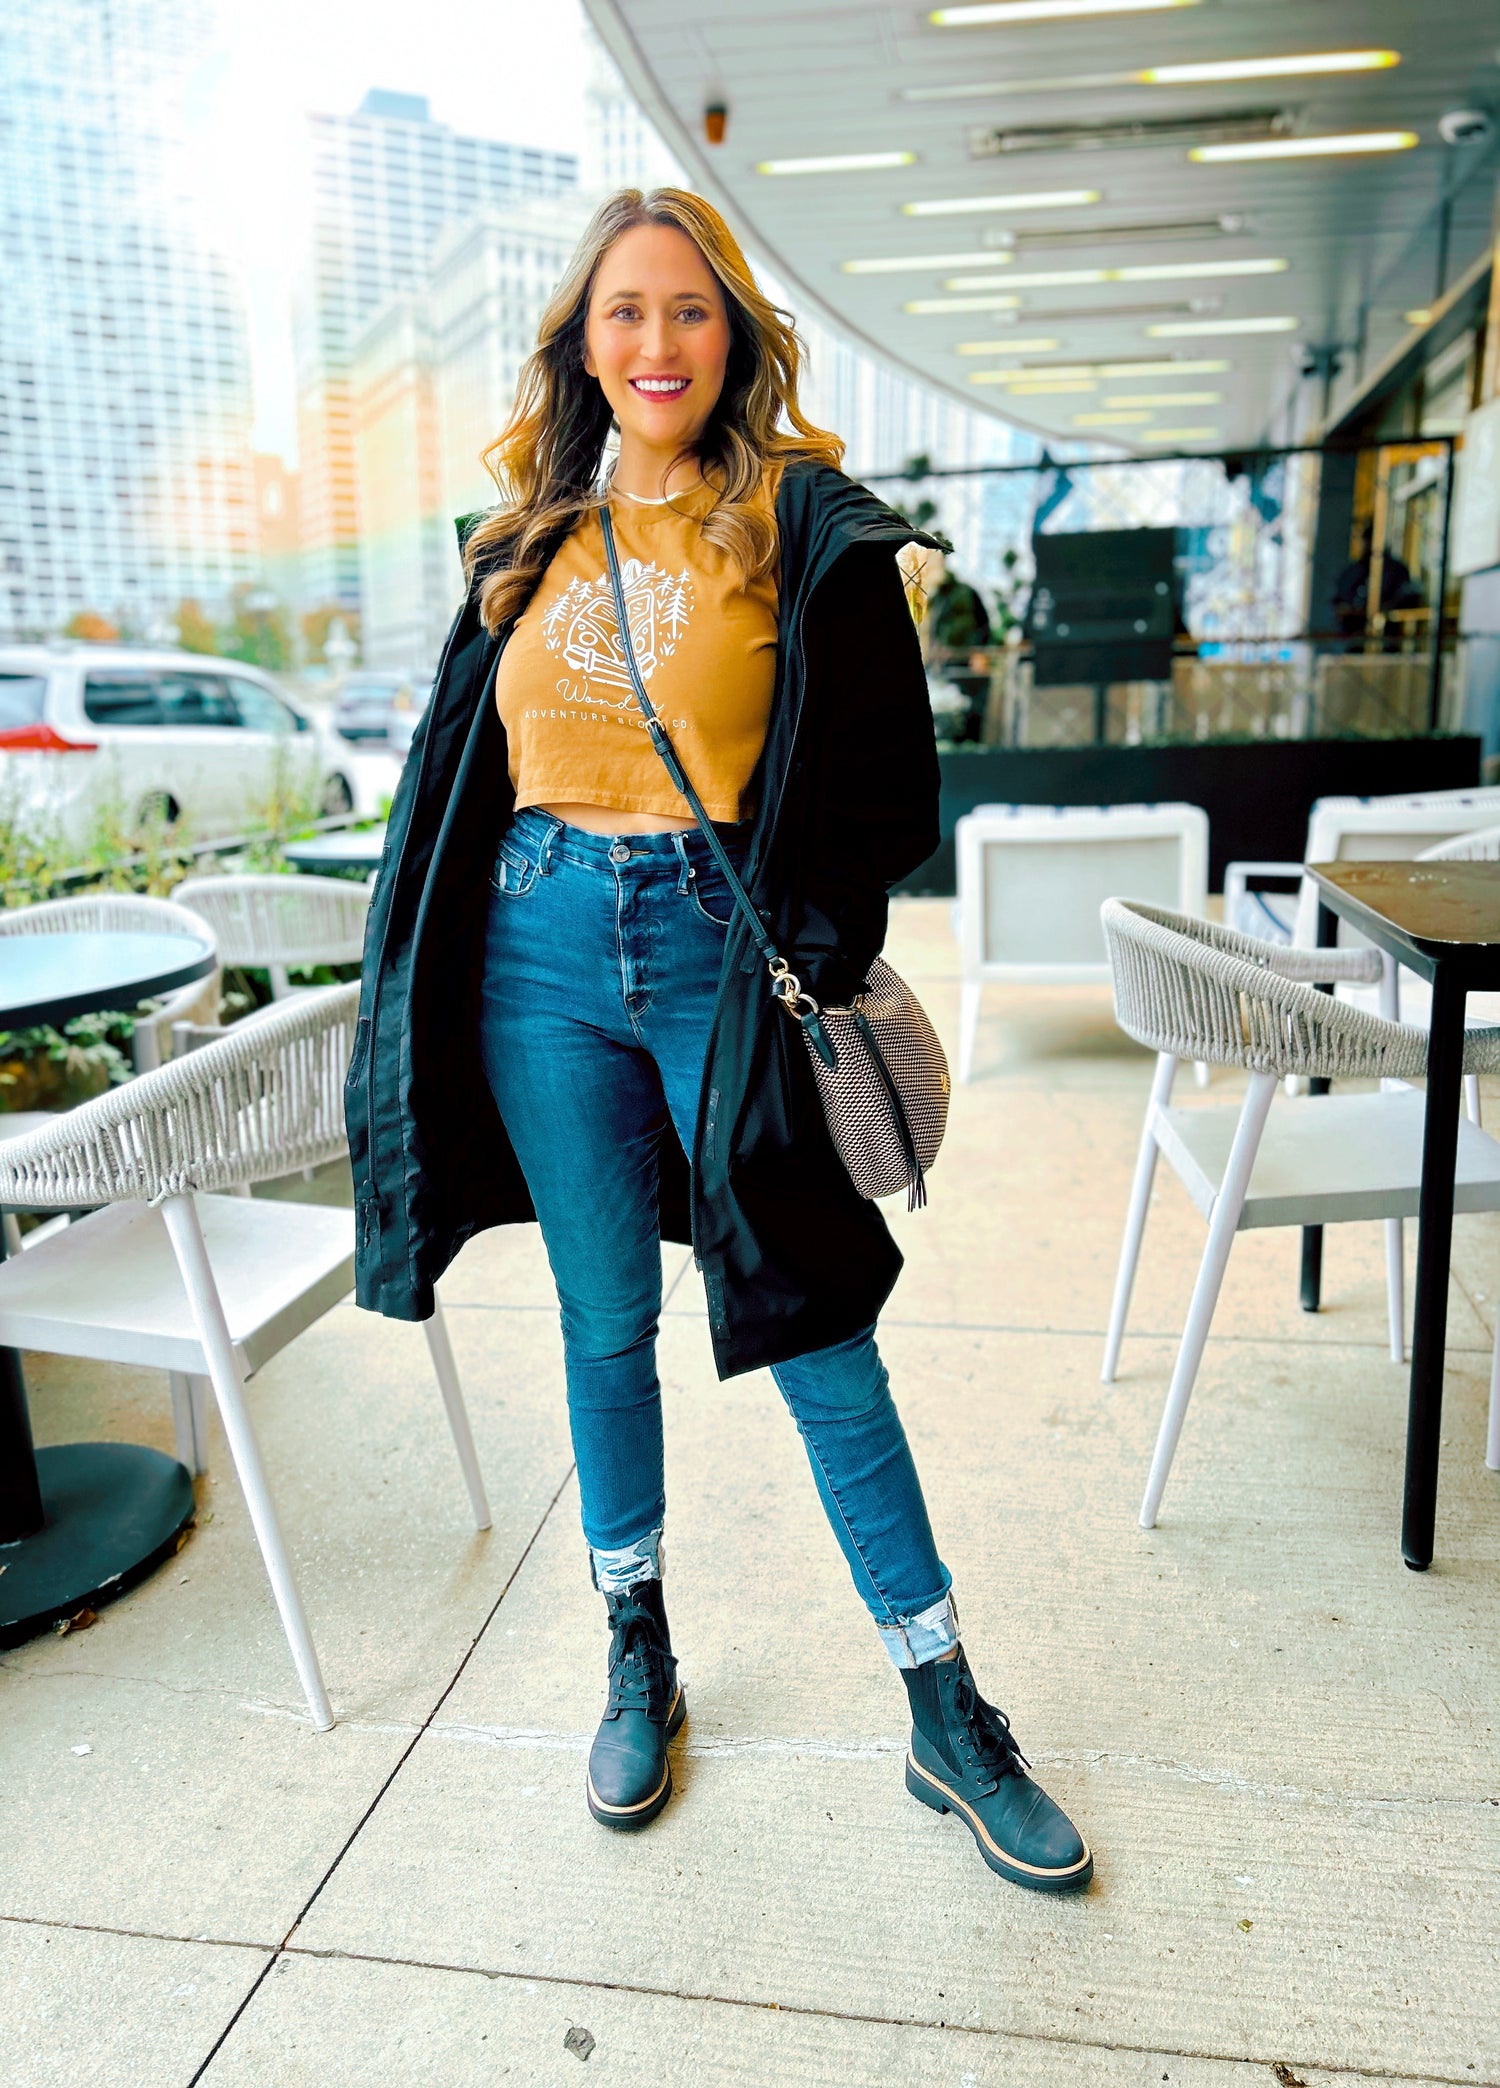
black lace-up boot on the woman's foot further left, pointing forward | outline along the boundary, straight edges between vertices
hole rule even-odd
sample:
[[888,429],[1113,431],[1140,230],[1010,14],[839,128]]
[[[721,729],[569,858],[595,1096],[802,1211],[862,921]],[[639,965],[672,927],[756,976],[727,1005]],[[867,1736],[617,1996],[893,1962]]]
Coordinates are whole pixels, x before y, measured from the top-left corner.
[[606,1593],[610,1702],[589,1750],[589,1812],[604,1827],[646,1827],[673,1796],[666,1741],[687,1716],[660,1581]]

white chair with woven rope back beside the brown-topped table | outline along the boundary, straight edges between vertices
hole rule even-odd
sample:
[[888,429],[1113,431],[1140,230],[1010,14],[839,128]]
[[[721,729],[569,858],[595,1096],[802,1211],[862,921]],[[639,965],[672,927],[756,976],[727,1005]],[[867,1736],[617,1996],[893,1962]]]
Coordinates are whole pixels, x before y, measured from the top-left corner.
[[[1287,1073],[1322,1079],[1406,1082],[1427,1071],[1427,1031],[1387,1023],[1320,994],[1312,981],[1345,979],[1373,950],[1289,950],[1189,915],[1134,900],[1103,906],[1120,1027],[1157,1052],[1120,1247],[1103,1382],[1120,1361],[1157,1153],[1164,1153],[1208,1219],[1182,1345],[1162,1414],[1141,1528],[1162,1505],[1187,1403],[1218,1305],[1235,1234],[1251,1226],[1333,1226],[1345,1219],[1412,1217],[1423,1173],[1425,1096],[1410,1088],[1270,1100]],[[1178,1059],[1243,1067],[1245,1100],[1233,1109],[1170,1109]],[[1500,1029],[1473,1031],[1464,1065],[1500,1067]],[[1456,1211],[1500,1209],[1500,1144],[1458,1125]],[[1500,1336],[1490,1380],[1487,1464],[1500,1470]]]

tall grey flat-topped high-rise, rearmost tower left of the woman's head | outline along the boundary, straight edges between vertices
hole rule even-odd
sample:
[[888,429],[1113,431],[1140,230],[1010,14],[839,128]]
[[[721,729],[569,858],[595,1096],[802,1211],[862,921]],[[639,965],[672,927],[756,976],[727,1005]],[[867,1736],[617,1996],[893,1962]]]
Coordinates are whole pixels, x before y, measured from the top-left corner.
[[357,614],[359,505],[353,342],[393,296],[418,290],[441,236],[485,205],[577,188],[570,152],[462,138],[416,94],[366,94],[353,117],[311,119],[311,251],[297,299],[303,599]]

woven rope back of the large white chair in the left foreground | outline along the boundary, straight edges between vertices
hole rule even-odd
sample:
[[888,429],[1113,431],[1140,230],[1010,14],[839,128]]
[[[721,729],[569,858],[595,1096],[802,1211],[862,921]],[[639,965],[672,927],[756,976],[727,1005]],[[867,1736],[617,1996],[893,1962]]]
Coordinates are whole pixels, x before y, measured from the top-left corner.
[[142,1073],[0,1144],[0,1203],[155,1203],[315,1167],[345,1150],[343,1084],[359,986],[299,994],[276,1015]]

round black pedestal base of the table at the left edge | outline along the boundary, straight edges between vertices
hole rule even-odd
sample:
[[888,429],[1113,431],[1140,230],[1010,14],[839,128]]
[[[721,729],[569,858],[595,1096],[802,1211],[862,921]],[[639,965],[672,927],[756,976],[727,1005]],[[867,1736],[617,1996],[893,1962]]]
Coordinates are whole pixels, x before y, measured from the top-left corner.
[[42,1528],[0,1545],[0,1647],[123,1595],[192,1522],[186,1466],[140,1443],[40,1449],[36,1474]]

